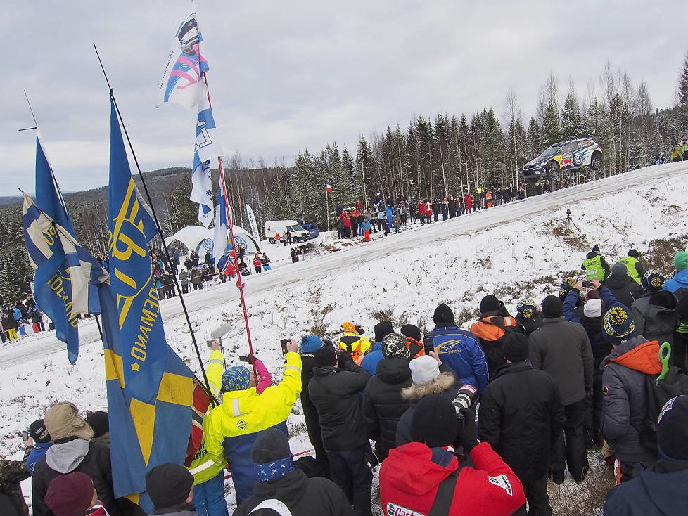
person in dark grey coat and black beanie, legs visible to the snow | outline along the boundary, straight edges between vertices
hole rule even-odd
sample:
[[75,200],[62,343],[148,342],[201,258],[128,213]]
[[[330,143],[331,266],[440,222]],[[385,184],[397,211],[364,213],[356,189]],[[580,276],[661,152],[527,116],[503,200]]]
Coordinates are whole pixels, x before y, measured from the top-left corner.
[[[529,337],[530,361],[552,375],[566,412],[566,425],[554,446],[552,479],[563,484],[564,469],[576,482],[587,474],[583,419],[585,398],[592,396],[592,350],[582,326],[566,321],[559,297],[542,302],[542,325]],[[564,439],[566,436],[566,439]]]

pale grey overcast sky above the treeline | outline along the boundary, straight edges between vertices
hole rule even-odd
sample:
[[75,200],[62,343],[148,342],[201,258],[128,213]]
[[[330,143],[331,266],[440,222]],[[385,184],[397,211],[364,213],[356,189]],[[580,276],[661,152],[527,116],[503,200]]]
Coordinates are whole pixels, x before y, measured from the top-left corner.
[[[509,88],[525,122],[552,71],[581,98],[606,60],[673,104],[688,37],[668,1],[198,0],[210,95],[227,155],[292,164],[304,148],[404,129],[415,114],[504,115]],[[60,186],[108,181],[110,105],[92,42],[141,167],[191,166],[196,113],[155,108],[186,0],[14,2],[0,20],[0,195],[34,191],[32,102]]]

